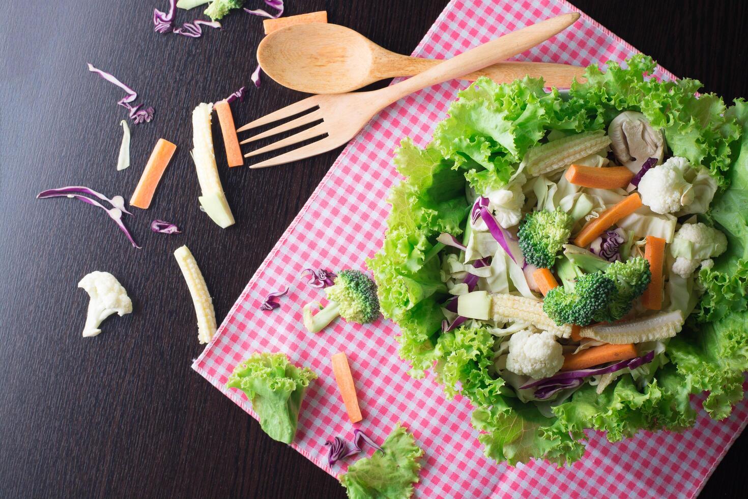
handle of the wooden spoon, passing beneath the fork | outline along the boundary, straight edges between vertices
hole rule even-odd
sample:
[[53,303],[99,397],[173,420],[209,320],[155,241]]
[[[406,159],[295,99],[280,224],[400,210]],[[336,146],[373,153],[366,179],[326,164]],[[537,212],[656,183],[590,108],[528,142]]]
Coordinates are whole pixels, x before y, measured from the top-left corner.
[[[397,54],[393,54],[397,55]],[[396,76],[414,76],[423,73],[434,66],[444,62],[443,59],[426,59],[397,55],[397,58],[389,58],[387,67],[377,76],[378,79],[394,78]],[[482,70],[473,71],[465,76],[459,76],[460,80],[474,82],[480,76],[488,76],[497,83],[512,82],[525,76],[541,78],[545,85],[557,88],[569,88],[571,82],[583,83],[584,68],[571,66],[571,64],[554,64],[552,62],[500,62],[484,67]]]

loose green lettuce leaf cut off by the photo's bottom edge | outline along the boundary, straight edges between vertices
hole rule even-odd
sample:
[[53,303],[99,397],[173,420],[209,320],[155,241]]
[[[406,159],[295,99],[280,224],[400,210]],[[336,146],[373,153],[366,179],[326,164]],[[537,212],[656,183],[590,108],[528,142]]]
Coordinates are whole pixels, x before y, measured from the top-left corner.
[[421,456],[413,435],[397,425],[381,450],[350,465],[340,483],[351,499],[407,499],[418,482]]

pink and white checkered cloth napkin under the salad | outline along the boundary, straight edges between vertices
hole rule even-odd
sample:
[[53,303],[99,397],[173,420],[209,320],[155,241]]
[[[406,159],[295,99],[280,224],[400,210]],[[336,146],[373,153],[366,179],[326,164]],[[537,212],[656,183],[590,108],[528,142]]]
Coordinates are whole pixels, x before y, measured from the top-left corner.
[[[413,55],[447,58],[500,34],[560,13],[576,10],[563,0],[453,0]],[[636,49],[589,17],[518,60],[586,66],[623,61]],[[659,76],[672,77],[662,68]],[[345,351],[354,373],[364,428],[382,441],[402,421],[426,452],[416,487],[419,497],[509,496],[692,497],[720,462],[748,421],[743,401],[729,419],[714,422],[702,414],[687,432],[642,432],[616,444],[590,432],[586,456],[565,469],[545,462],[512,468],[482,455],[470,426],[472,408],[462,397],[444,398],[432,376],[411,379],[397,355],[397,328],[389,320],[373,325],[339,320],[321,334],[301,325],[301,307],[324,297],[306,284],[307,267],[363,268],[381,245],[390,207],[387,191],[398,180],[393,150],[410,136],[425,145],[463,82],[428,88],[384,109],[343,150],[314,194],[249,281],[212,343],[193,368],[253,417],[244,394],[224,384],[233,367],[254,351],[285,352],[295,364],[311,367],[319,379],[310,386],[293,444],[319,468],[337,476],[345,465],[327,465],[326,440],[350,440],[349,423],[331,371],[330,356]],[[289,285],[281,308],[259,310],[263,296]],[[700,400],[700,399],[699,399]]]

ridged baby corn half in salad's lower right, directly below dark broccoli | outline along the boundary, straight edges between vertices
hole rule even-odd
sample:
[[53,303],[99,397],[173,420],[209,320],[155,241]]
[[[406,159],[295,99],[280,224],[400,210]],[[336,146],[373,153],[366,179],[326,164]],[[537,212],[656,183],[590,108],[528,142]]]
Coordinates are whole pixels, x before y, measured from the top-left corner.
[[591,325],[589,328],[582,328],[580,334],[606,343],[643,343],[675,336],[681,331],[683,322],[681,310],[675,310],[637,317],[625,322]]

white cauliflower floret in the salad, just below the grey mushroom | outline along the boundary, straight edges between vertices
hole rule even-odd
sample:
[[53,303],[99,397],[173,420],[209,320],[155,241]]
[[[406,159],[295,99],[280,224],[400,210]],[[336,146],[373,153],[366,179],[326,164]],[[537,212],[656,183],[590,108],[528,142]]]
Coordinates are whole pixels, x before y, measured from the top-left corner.
[[675,156],[647,171],[638,187],[642,203],[660,214],[677,212],[690,204],[692,186],[684,178],[690,169],[687,159]]

